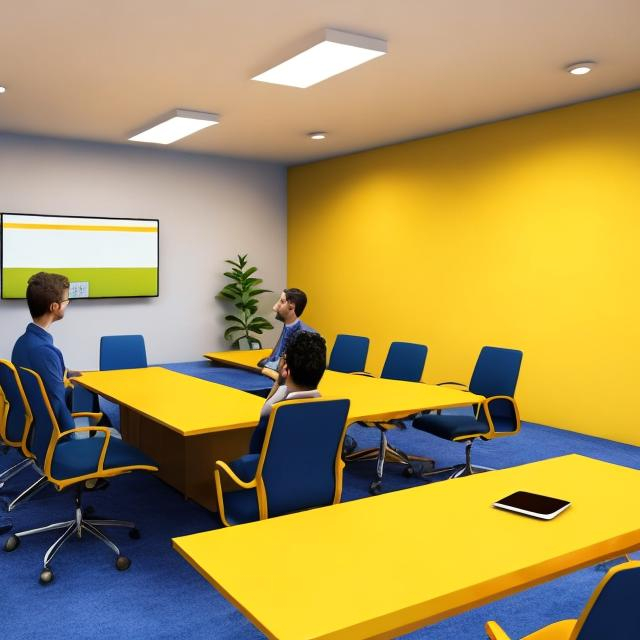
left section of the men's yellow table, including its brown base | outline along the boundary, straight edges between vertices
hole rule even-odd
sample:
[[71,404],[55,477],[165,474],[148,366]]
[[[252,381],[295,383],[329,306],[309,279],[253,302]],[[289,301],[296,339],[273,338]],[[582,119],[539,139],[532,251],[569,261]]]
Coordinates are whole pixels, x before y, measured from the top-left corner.
[[215,461],[247,452],[263,398],[161,367],[87,371],[76,381],[120,405],[123,439],[158,463],[160,478],[217,509]]

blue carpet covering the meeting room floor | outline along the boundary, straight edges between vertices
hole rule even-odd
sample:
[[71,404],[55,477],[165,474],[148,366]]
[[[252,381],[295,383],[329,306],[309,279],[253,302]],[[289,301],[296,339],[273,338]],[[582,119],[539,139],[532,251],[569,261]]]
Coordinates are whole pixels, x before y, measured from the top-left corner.
[[[377,434],[372,430],[352,427],[349,433],[360,446],[377,443]],[[411,428],[392,432],[390,440],[406,451],[435,458],[439,466],[461,462],[464,458],[462,445]],[[505,467],[572,452],[640,469],[637,447],[530,423],[523,424],[518,437],[478,443],[474,447],[474,462]],[[12,452],[0,455],[0,470],[16,460]],[[366,499],[372,473],[373,467],[368,463],[348,467],[343,500]],[[6,502],[17,495],[32,477],[30,471],[15,477],[0,492],[2,500]],[[389,465],[384,489],[400,490],[421,482],[402,477],[397,467]],[[116,478],[108,490],[94,492],[85,502],[93,505],[101,516],[136,521],[142,532],[140,540],[130,540],[126,533],[113,535],[122,552],[132,559],[131,568],[122,573],[116,571],[114,556],[97,540],[72,540],[55,558],[55,581],[41,587],[38,575],[42,555],[55,534],[26,538],[11,554],[0,551],[1,638],[230,640],[264,637],[171,548],[170,539],[174,536],[218,527],[216,516],[185,501],[148,474]],[[71,515],[72,494],[56,494],[47,489],[10,517],[14,529],[22,530],[68,519]],[[407,526],[411,526],[410,514]],[[2,536],[0,542],[5,538],[6,535]],[[428,531],[424,539],[428,545]],[[402,544],[401,531],[397,544]],[[345,550],[345,570],[348,570],[349,554],[357,553],[358,549]],[[461,571],[469,553],[473,552],[461,552]],[[578,571],[404,637],[481,640],[485,638],[484,622],[496,619],[508,633],[519,638],[554,620],[577,616],[604,570],[605,567],[596,566]],[[396,579],[402,580],[402,576]],[[425,575],[425,580],[428,579]],[[383,591],[384,586],[381,589]]]

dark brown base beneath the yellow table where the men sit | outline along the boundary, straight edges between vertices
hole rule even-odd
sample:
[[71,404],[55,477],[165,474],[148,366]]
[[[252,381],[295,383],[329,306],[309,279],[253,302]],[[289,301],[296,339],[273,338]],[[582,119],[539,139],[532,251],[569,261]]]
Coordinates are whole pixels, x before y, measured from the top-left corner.
[[[185,437],[121,406],[120,432],[123,440],[157,462],[158,476],[164,482],[205,509],[217,511],[216,460],[228,462],[247,453],[253,427]],[[231,484],[227,488],[237,489]]]

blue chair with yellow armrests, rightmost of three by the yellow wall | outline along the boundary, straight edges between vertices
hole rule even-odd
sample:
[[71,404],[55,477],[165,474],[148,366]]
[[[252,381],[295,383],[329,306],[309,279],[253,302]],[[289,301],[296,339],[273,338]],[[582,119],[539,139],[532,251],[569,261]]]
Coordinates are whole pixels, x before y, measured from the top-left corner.
[[513,396],[521,363],[522,351],[482,347],[468,389],[458,382],[441,383],[459,386],[484,396],[485,400],[474,407],[473,416],[442,415],[438,412],[423,414],[414,419],[413,426],[420,431],[452,442],[466,443],[464,465],[423,472],[422,477],[450,472],[450,477],[454,478],[488,470],[471,464],[471,447],[477,438],[493,440],[514,436],[520,431],[520,415]]

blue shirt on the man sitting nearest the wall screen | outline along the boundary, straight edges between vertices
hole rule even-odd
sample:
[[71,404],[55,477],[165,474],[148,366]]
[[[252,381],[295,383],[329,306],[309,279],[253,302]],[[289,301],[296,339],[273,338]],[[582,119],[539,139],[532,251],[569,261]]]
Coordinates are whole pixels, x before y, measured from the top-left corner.
[[73,429],[75,424],[65,400],[64,358],[60,349],[54,346],[53,336],[37,324],[29,323],[13,347],[11,362],[40,375],[58,426],[62,431]]

